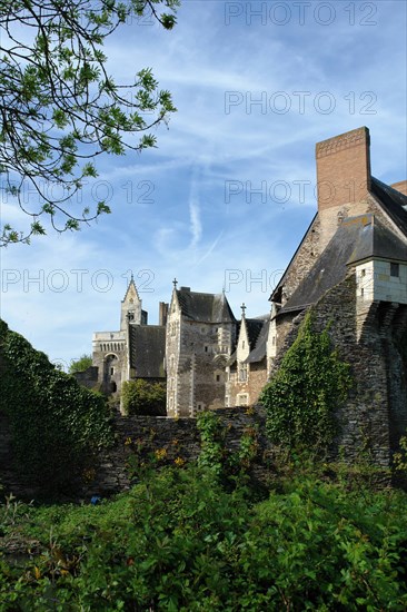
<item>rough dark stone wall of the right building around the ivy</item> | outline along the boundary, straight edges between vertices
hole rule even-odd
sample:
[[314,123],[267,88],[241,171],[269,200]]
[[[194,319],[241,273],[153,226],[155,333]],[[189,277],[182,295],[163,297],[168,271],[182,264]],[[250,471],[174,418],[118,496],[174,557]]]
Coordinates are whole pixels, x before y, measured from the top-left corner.
[[[371,303],[360,316],[364,318],[363,334],[358,340],[357,297],[355,273],[327,292],[314,306],[315,327],[322,330],[329,324],[339,356],[351,366],[354,386],[348,401],[338,413],[340,434],[332,446],[332,455],[339,447],[348,461],[360,458],[369,452],[375,463],[389,467],[391,453],[407,425],[406,375],[393,327],[394,313],[390,304]],[[391,317],[389,317],[389,313]],[[276,372],[287,348],[298,333],[304,314],[281,322],[284,345],[275,361]],[[406,317],[407,318],[407,317]],[[406,319],[399,316],[399,325],[406,329]]]

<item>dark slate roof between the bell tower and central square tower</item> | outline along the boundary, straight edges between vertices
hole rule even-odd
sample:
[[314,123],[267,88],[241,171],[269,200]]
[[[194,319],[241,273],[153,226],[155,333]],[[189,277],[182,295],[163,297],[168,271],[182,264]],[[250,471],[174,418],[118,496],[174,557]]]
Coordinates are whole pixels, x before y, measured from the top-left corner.
[[138,378],[165,378],[166,327],[130,325],[130,367]]

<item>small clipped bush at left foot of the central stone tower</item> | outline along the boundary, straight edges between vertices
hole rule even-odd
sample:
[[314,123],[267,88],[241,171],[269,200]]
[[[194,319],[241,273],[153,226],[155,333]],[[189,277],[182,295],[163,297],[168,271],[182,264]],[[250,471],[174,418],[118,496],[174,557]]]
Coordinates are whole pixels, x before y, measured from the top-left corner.
[[166,416],[166,384],[148,383],[141,378],[125,382],[121,389],[126,414]]

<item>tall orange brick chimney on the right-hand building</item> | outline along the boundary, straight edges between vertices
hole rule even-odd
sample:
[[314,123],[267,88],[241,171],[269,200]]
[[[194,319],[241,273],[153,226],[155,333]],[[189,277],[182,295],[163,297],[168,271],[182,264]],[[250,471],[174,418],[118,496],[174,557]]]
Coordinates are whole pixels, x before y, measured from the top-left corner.
[[[370,188],[370,136],[358,128],[316,146],[318,210],[358,204]],[[351,210],[349,210],[351,215]]]

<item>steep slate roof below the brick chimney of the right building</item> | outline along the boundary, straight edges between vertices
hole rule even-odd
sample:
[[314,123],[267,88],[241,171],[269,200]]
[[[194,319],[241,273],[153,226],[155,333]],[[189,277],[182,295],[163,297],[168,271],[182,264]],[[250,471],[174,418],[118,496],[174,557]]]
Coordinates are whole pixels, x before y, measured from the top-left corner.
[[302,310],[315,304],[325,292],[345,278],[349,264],[375,257],[407,261],[407,244],[374,215],[345,219],[279,315]]

